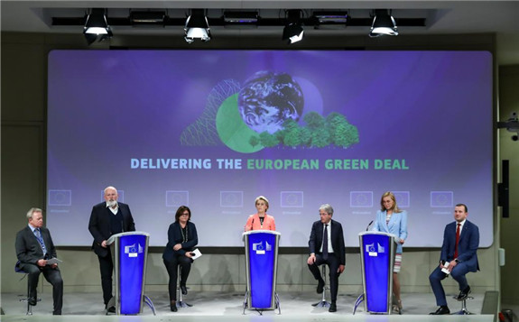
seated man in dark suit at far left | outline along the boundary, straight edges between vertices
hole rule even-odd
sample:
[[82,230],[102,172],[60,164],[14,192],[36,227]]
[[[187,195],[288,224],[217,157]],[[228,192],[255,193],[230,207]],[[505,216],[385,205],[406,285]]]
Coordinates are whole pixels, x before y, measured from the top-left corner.
[[29,304],[37,303],[36,287],[40,273],[52,285],[54,300],[53,315],[61,315],[63,307],[63,280],[58,264],[48,264],[48,260],[56,257],[56,247],[52,243],[51,232],[43,227],[42,209],[31,208],[27,212],[29,225],[16,234],[16,256],[19,268],[28,274]]

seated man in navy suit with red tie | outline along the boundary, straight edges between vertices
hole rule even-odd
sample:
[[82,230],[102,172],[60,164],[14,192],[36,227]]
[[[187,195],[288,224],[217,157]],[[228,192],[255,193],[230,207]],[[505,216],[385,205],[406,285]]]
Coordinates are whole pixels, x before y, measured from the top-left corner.
[[[448,275],[458,282],[458,300],[467,299],[470,293],[465,275],[468,271],[479,270],[477,262],[477,247],[479,246],[479,229],[477,225],[467,220],[468,209],[464,204],[454,207],[453,223],[445,226],[443,233],[443,245],[441,246],[440,265],[431,272],[429,281],[436,297],[438,308],[432,315],[449,314],[449,307],[445,299],[445,291],[441,286],[441,280]],[[449,274],[441,271],[447,266]]]

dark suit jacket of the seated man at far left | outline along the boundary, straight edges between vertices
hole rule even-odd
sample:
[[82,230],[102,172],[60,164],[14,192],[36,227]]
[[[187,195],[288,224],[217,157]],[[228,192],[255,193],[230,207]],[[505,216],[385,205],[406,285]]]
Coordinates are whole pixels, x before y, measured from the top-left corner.
[[[45,248],[47,249],[48,257],[56,257],[56,247],[54,247],[54,243],[52,243],[51,232],[45,227],[40,228],[40,231],[43,243],[45,243]],[[18,261],[20,261],[21,269],[23,269],[23,264],[30,263],[37,265],[37,262],[45,257],[40,242],[38,242],[38,239],[34,233],[32,233],[31,227],[28,225],[16,234],[15,246],[16,257],[18,257]]]

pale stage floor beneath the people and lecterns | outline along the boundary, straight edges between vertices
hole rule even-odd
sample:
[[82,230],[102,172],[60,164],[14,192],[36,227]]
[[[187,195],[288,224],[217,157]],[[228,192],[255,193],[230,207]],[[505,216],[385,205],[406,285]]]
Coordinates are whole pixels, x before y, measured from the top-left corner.
[[[110,322],[110,321],[173,321],[185,322],[201,321],[473,321],[491,322],[492,315],[480,315],[484,294],[471,294],[474,299],[468,300],[468,310],[475,315],[472,316],[430,316],[434,311],[434,296],[431,293],[409,293],[403,294],[402,315],[372,315],[367,314],[363,304],[357,308],[353,315],[353,307],[356,294],[339,294],[338,311],[329,313],[328,308],[314,308],[312,303],[320,300],[316,293],[279,293],[281,315],[278,310],[263,311],[263,315],[254,309],[246,309],[243,314],[243,293],[220,293],[220,292],[190,292],[184,300],[193,306],[191,308],[179,308],[178,312],[171,312],[167,292],[150,292],[146,294],[152,299],[156,309],[156,316],[147,306],[139,316],[106,316],[102,297],[100,293],[66,293],[63,303],[63,316],[53,317],[51,293],[39,294],[42,301],[32,308],[32,316],[25,316],[26,304],[19,301],[22,295],[13,293],[2,293],[2,308],[5,316],[0,320],[5,322],[14,321],[67,321],[67,322]],[[460,302],[448,297],[451,312],[461,308]]]

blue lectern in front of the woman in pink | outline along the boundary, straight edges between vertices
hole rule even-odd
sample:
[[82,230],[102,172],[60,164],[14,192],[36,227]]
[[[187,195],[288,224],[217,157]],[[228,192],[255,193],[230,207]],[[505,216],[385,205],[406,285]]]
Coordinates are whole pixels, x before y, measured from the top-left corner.
[[252,230],[243,234],[247,286],[244,313],[246,308],[280,308],[275,291],[280,236],[280,233],[270,230]]

